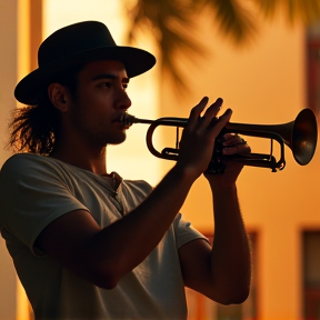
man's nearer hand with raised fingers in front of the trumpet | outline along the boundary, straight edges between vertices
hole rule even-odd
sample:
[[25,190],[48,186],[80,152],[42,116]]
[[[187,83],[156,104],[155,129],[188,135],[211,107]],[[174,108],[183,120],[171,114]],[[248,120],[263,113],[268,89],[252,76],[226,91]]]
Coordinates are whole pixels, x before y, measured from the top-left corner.
[[187,127],[183,130],[179,147],[177,167],[197,179],[206,171],[212,157],[214,141],[222,128],[228,123],[232,111],[228,109],[220,118],[217,114],[222,104],[219,98],[200,118],[209,99],[204,97],[199,104],[192,108]]

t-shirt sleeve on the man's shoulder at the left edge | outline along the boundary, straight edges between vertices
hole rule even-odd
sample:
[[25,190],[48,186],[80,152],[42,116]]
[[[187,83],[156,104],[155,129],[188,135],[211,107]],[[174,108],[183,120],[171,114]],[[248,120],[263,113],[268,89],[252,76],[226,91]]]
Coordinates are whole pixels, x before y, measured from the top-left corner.
[[0,172],[0,229],[34,253],[33,243],[50,222],[73,210],[89,210],[72,194],[58,167],[19,156],[11,157]]

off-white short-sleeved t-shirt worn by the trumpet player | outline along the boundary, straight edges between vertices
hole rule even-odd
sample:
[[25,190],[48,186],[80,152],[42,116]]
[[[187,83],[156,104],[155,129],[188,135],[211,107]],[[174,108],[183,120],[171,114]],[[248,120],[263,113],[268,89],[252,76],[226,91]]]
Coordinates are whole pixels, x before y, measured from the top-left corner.
[[1,234],[36,320],[187,318],[178,249],[204,237],[180,213],[158,247],[112,290],[83,280],[33,250],[39,233],[62,214],[87,210],[103,228],[129,213],[151,190],[144,181],[122,179],[114,190],[110,178],[32,153],[16,154],[3,164]]

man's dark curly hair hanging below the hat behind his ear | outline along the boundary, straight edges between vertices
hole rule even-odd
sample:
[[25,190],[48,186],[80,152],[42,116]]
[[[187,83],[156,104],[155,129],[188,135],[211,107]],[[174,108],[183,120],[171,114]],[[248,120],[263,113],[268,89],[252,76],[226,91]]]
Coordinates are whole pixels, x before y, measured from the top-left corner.
[[48,86],[53,82],[61,83],[76,97],[78,74],[84,66],[69,69],[54,77],[47,86],[42,86],[37,104],[17,108],[12,111],[12,119],[9,123],[9,147],[14,152],[48,156],[52,151],[60,128],[60,111],[48,96]]

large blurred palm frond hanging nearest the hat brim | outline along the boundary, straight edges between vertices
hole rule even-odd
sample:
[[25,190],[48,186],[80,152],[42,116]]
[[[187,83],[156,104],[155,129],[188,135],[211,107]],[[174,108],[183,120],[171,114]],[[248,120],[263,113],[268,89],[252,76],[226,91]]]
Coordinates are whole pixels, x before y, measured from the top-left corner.
[[197,23],[192,20],[192,1],[183,1],[181,4],[181,1],[177,0],[138,0],[130,8],[129,14],[131,27],[128,40],[134,41],[141,29],[149,30],[161,52],[162,71],[171,76],[176,89],[188,90],[187,83],[182,80],[183,71],[174,62],[174,57],[178,53],[181,59],[194,61],[194,57],[206,54],[203,43],[193,36]]

